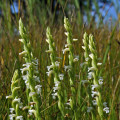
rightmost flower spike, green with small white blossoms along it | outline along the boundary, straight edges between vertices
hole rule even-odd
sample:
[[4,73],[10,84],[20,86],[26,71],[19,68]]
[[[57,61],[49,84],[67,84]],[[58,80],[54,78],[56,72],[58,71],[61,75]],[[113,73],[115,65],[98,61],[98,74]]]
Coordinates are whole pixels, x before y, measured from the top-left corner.
[[[109,113],[109,108],[104,105],[102,100],[102,94],[101,94],[101,87],[103,84],[103,78],[99,77],[99,69],[98,66],[102,63],[98,63],[98,57],[97,57],[97,50],[94,43],[93,35],[89,35],[89,49],[91,54],[89,54],[89,57],[91,58],[91,67],[88,68],[89,74],[93,77],[93,85],[91,85],[92,89],[92,97],[93,97],[93,105],[98,106],[98,114],[100,116],[100,119],[104,119],[103,111],[106,111],[106,113]],[[104,108],[105,106],[105,108]]]

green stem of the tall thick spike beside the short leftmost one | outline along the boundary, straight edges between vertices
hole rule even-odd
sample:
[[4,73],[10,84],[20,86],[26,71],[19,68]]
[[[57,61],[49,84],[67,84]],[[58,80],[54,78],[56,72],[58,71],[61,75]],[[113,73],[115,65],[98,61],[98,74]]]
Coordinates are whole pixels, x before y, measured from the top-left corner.
[[[37,94],[37,90],[35,89],[36,81],[33,77],[38,72],[38,70],[37,70],[38,63],[33,58],[32,47],[30,45],[30,41],[27,36],[26,29],[23,26],[21,19],[19,20],[19,32],[22,37],[22,39],[20,39],[20,41],[24,45],[24,51],[22,53],[20,53],[20,55],[24,55],[24,59],[26,62],[26,65],[25,65],[26,68],[25,69],[23,68],[23,70],[22,70],[23,74],[24,74],[24,72],[27,72],[27,74],[26,74],[27,75],[27,79],[26,79],[27,90],[26,91],[27,91],[27,94],[34,93],[32,95],[32,97],[30,95],[27,95],[28,100],[29,100],[28,102],[30,102],[31,99],[33,102],[35,102],[34,114],[35,114],[35,117],[37,120],[41,120],[41,114],[40,114],[41,99],[40,99],[40,95]],[[29,92],[29,90],[30,90],[30,92]]]

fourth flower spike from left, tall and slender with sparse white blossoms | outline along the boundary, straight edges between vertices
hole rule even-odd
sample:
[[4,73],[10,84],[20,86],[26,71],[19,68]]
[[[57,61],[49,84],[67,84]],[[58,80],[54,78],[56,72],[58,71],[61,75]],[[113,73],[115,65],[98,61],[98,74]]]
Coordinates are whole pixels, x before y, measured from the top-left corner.
[[[78,56],[74,57],[74,50],[73,50],[73,42],[77,41],[78,39],[73,39],[72,35],[72,27],[69,23],[68,18],[64,18],[64,27],[66,29],[65,35],[67,36],[67,44],[65,45],[65,49],[63,50],[63,54],[65,52],[69,52],[68,58],[69,58],[69,65],[64,66],[65,71],[67,70],[68,75],[69,75],[69,80],[70,80],[70,87],[71,87],[71,98],[70,98],[70,107],[72,111],[74,112],[74,119],[78,119],[78,113],[76,111],[76,99],[75,96],[77,94],[76,88],[74,87],[75,85],[75,72],[74,72],[74,63],[79,60]],[[69,104],[68,103],[68,104]]]

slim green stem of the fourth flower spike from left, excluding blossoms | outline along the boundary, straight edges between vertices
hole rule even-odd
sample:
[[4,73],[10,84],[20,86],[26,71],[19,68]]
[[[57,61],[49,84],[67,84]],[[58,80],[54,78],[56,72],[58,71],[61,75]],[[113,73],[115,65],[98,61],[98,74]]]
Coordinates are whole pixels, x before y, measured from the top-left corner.
[[68,49],[69,51],[69,65],[71,66],[70,69],[68,70],[68,74],[70,77],[70,86],[71,86],[71,100],[70,100],[70,106],[71,109],[74,112],[74,118],[75,120],[77,120],[77,110],[76,110],[76,88],[75,88],[75,70],[74,70],[74,53],[73,53],[73,36],[72,36],[72,27],[69,23],[68,18],[64,18],[64,27],[66,29],[66,36],[67,36],[67,47],[66,49]]

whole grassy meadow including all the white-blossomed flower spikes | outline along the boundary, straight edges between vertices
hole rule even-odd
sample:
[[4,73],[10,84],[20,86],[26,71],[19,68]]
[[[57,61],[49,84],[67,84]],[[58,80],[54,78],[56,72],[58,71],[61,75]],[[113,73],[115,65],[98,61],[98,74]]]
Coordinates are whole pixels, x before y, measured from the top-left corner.
[[73,15],[53,24],[29,7],[26,19],[3,9],[0,119],[119,120],[120,20],[96,26]]

